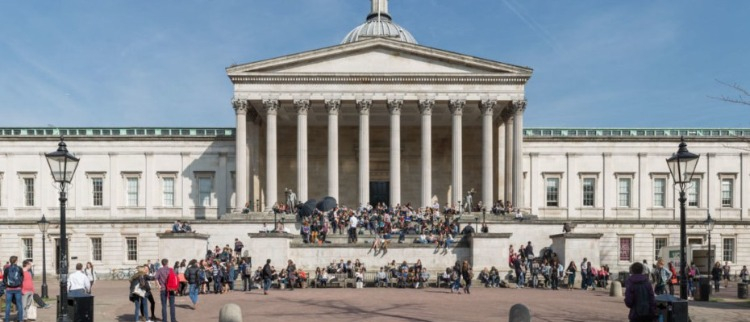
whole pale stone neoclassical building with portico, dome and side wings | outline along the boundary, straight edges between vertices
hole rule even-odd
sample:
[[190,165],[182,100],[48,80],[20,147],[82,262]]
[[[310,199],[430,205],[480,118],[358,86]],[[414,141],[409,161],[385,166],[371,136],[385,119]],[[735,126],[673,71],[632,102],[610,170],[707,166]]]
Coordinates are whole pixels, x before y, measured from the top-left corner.
[[[468,214],[466,224],[490,225],[487,248],[388,255],[420,256],[433,268],[460,258],[500,265],[508,244],[533,241],[569,260],[584,254],[624,269],[679,242],[665,159],[684,136],[701,155],[688,191],[689,243],[707,247],[702,222],[711,213],[715,258],[750,262],[750,129],[525,128],[525,109],[543,108],[526,103],[531,68],[419,45],[385,0],[372,1],[366,21],[339,45],[226,71],[235,128],[0,128],[0,257],[40,257],[36,221],[44,214],[53,221],[47,266],[55,268],[59,206],[44,153],[62,135],[81,157],[69,191],[69,258],[103,270],[200,256],[204,245],[234,238],[250,256],[293,257],[307,267],[368,256],[248,235],[271,225],[268,211],[285,189],[300,201],[332,196],[350,207],[456,205],[471,191],[474,202],[511,201],[538,217]],[[246,204],[249,215],[240,213]],[[163,234],[174,220],[191,221],[198,241],[174,248]],[[580,236],[560,236],[564,222]]]

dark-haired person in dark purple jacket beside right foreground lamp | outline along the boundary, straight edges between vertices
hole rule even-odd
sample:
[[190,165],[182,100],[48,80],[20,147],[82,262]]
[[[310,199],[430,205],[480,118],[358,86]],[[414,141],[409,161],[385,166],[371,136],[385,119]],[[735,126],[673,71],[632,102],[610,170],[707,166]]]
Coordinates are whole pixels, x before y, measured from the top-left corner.
[[656,296],[643,264],[630,265],[630,277],[625,281],[625,306],[630,309],[631,322],[653,322],[656,317]]

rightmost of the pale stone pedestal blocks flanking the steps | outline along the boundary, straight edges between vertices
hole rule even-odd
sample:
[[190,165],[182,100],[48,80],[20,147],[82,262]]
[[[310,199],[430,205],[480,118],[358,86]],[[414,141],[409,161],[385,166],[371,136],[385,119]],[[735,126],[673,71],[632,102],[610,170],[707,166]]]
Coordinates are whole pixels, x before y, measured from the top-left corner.
[[550,235],[552,239],[552,251],[557,253],[557,258],[564,267],[568,267],[570,261],[575,261],[579,266],[584,258],[587,258],[594,267],[601,267],[599,260],[599,240],[603,234],[577,234],[565,233]]

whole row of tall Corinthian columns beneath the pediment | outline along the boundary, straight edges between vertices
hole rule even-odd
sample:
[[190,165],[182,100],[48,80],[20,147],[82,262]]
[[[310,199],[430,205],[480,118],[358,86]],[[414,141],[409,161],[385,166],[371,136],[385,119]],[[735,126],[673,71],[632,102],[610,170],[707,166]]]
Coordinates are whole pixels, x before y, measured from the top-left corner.
[[[298,200],[308,199],[308,131],[307,116],[311,108],[311,102],[307,99],[298,99],[293,102],[297,113],[297,197]],[[392,205],[405,202],[401,200],[401,110],[404,101],[401,99],[388,99],[386,106],[389,112],[390,126],[390,202]],[[421,184],[420,204],[425,206],[431,204],[432,191],[432,112],[435,109],[435,100],[421,99],[417,102],[421,118]],[[448,110],[451,113],[451,199],[455,202],[463,200],[462,187],[462,123],[463,113],[467,108],[466,100],[451,99],[447,101]],[[250,103],[247,100],[235,100],[233,106],[237,116],[236,132],[236,210],[241,210],[248,201],[248,157],[247,157],[247,113]],[[334,198],[339,197],[339,112],[341,100],[327,99],[324,106],[328,114],[328,194]],[[370,199],[370,111],[373,106],[371,99],[358,99],[355,106],[359,116],[359,151],[358,151],[358,202],[366,204]],[[493,119],[498,104],[495,100],[482,100],[478,104],[481,112],[482,124],[482,195],[475,200],[482,200],[484,205],[492,205],[495,197],[493,192]],[[266,130],[266,182],[264,198],[264,210],[269,210],[277,201],[278,194],[278,136],[277,117],[280,102],[277,99],[265,99],[262,101],[263,115],[265,116]],[[505,200],[511,200],[513,205],[523,203],[522,180],[523,180],[523,113],[526,101],[511,101],[503,107],[500,120],[505,127],[505,160],[504,160],[504,191]],[[258,156],[255,156],[256,158]],[[503,184],[503,183],[500,183]]]

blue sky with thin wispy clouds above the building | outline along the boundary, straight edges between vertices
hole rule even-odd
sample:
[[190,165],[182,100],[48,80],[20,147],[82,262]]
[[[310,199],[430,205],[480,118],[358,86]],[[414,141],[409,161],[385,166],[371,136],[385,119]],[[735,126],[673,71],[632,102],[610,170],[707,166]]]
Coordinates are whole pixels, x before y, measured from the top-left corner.
[[[234,126],[232,64],[338,44],[368,0],[0,1],[0,126]],[[391,0],[420,44],[529,66],[528,127],[750,127],[750,1]]]

